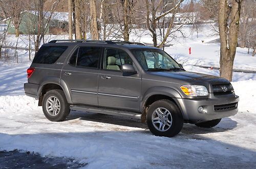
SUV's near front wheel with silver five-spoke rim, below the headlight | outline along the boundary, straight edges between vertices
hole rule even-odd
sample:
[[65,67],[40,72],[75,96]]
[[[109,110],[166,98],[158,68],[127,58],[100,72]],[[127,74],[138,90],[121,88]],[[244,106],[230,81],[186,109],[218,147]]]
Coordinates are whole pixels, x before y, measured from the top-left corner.
[[146,122],[148,129],[156,136],[173,137],[183,127],[180,109],[170,100],[154,102],[147,110]]

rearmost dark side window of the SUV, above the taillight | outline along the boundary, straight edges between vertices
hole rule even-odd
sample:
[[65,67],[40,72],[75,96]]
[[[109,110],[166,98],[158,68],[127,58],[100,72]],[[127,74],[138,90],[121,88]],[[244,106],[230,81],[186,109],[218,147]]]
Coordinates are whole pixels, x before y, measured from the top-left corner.
[[68,46],[42,46],[37,52],[33,63],[53,64]]

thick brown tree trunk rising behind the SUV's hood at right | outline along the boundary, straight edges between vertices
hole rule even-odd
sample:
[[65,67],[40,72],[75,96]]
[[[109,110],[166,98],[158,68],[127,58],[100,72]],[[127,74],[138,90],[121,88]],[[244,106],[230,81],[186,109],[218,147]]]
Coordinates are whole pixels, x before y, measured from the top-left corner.
[[233,62],[238,45],[242,1],[219,0],[220,76],[229,81],[232,81]]

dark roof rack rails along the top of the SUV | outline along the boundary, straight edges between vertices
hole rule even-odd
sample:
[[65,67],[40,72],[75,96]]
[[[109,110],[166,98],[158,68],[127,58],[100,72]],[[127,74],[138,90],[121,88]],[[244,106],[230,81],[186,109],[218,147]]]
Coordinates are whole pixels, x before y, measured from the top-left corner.
[[56,43],[56,42],[86,42],[86,43],[107,43],[107,44],[137,44],[137,45],[144,45],[140,42],[128,42],[128,41],[121,41],[121,40],[51,40],[48,43]]

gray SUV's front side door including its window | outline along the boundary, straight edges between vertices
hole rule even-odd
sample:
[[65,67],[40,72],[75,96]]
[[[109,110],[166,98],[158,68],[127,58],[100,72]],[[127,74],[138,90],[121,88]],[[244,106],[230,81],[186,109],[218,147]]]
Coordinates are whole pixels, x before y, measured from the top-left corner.
[[98,79],[99,106],[139,112],[141,75],[120,70],[122,64],[135,67],[130,56],[123,50],[106,48],[102,64]]

